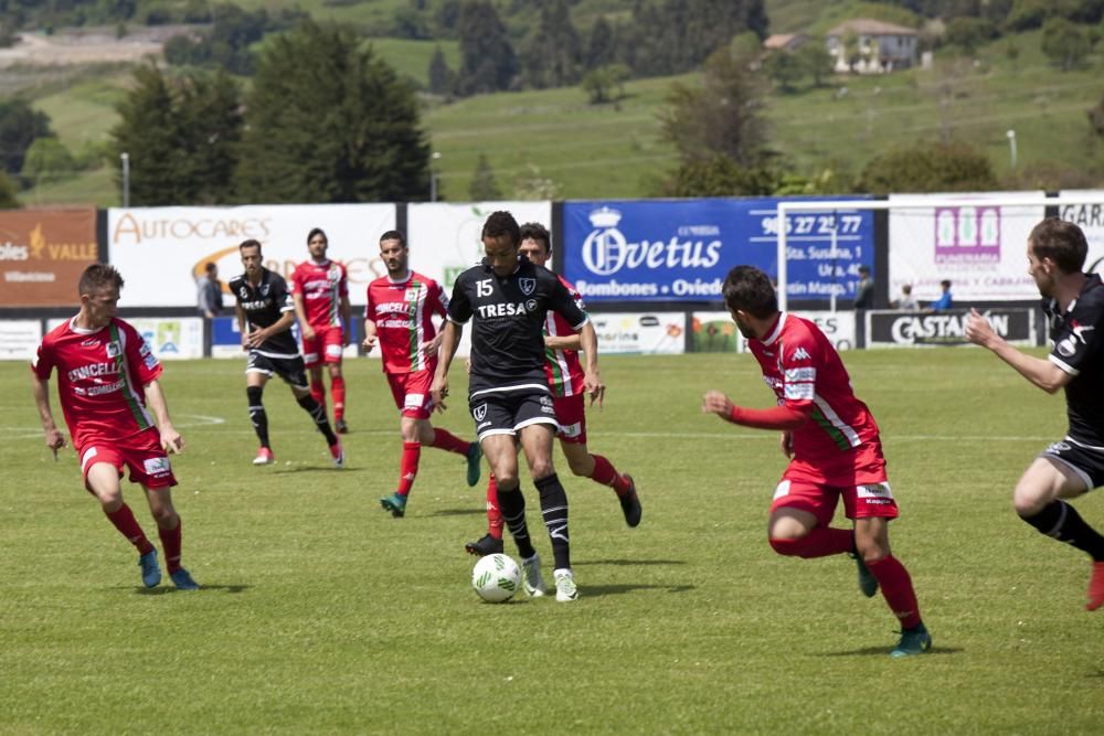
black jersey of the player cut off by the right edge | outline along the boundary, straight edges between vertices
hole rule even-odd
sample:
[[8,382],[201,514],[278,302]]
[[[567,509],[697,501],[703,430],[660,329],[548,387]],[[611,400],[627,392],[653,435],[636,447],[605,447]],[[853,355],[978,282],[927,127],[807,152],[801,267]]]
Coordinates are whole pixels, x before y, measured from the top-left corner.
[[1050,362],[1073,380],[1065,385],[1070,439],[1104,451],[1104,284],[1086,274],[1078,298],[1062,313],[1053,299],[1043,301],[1054,348]]

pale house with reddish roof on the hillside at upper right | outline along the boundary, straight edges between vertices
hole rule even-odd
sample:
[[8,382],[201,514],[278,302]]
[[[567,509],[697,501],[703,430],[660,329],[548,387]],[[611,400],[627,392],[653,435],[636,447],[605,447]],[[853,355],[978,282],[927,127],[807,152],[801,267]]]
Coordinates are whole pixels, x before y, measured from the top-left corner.
[[916,63],[914,29],[869,18],[853,18],[828,31],[825,43],[836,72],[882,74]]

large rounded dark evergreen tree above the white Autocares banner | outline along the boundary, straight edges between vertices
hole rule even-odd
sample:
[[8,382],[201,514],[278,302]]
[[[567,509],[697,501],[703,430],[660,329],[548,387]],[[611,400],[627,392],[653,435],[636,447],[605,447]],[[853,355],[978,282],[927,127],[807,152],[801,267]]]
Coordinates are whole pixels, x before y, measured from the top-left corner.
[[267,44],[245,114],[238,193],[254,202],[389,202],[429,190],[413,89],[347,28],[304,21]]

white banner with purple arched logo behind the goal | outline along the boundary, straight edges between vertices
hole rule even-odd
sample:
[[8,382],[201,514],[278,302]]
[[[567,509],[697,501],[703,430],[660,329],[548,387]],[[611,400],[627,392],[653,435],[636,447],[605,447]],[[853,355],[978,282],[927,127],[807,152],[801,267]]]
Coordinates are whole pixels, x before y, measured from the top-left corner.
[[[890,203],[941,200],[931,207],[890,210],[889,286],[898,298],[911,284],[922,303],[938,299],[940,281],[951,281],[955,303],[1038,299],[1028,276],[1027,243],[1044,207],[1016,205],[1043,192],[995,194],[892,194]],[[875,275],[877,277],[877,275]]]

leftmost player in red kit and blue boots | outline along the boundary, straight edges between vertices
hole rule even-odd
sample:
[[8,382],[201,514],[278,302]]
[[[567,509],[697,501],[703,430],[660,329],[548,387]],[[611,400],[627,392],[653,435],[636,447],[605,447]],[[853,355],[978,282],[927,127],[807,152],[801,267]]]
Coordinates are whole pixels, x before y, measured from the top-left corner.
[[43,338],[31,362],[34,403],[46,446],[56,458],[65,447],[50,408],[50,374],[56,369],[57,396],[85,488],[138,550],[142,584],[157,586],[161,568],[157,550],[123,500],[124,468],[146,491],[169,577],[181,590],[194,590],[199,586],[180,566],[180,516],[170,490],[177,479],[167,455],[183,450],[184,440],[169,418],[158,382],[161,364],[138,331],[115,316],[121,288],[123,277],[110,266],[93,264],[84,270],[81,311]]

